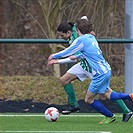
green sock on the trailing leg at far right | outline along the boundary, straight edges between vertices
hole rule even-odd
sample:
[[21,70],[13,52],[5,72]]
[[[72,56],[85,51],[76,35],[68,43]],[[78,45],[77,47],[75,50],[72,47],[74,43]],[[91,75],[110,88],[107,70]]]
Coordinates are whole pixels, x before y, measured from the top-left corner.
[[122,113],[127,114],[130,112],[123,100],[115,100],[114,102],[121,109]]

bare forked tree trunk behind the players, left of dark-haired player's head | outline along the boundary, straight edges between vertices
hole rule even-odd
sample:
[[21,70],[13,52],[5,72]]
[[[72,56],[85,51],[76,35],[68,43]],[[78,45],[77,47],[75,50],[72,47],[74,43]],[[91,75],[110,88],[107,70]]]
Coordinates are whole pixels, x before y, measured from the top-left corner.
[[[40,4],[42,8],[42,12],[44,15],[46,27],[47,27],[47,38],[56,38],[55,34],[55,27],[57,23],[60,22],[60,10],[61,7],[64,4],[64,0],[38,0],[38,3]],[[55,53],[57,52],[57,45],[56,44],[49,44],[51,48],[51,52]],[[54,75],[56,77],[60,77],[60,66],[54,65]]]

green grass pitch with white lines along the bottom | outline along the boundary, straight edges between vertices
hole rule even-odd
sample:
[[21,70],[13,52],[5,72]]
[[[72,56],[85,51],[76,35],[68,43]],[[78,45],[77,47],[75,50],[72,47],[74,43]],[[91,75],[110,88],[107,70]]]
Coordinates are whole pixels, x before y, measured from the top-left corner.
[[102,115],[60,115],[57,122],[48,122],[43,114],[0,114],[0,133],[132,133],[133,118],[122,122],[122,114],[116,121],[99,125]]

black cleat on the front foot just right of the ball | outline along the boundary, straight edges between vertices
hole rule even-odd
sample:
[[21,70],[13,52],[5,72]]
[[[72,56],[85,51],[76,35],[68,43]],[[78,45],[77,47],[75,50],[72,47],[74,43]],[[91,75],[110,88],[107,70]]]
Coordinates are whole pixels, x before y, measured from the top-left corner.
[[63,110],[62,114],[68,115],[68,114],[70,114],[72,112],[78,112],[79,110],[80,110],[79,106],[70,106],[68,109]]

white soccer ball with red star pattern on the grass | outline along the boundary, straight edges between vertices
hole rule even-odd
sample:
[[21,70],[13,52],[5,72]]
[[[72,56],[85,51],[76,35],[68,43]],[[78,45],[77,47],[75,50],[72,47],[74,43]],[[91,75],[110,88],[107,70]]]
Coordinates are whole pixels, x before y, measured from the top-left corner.
[[44,114],[45,114],[46,120],[50,122],[55,122],[60,117],[59,110],[55,107],[49,107],[48,109],[46,109]]

